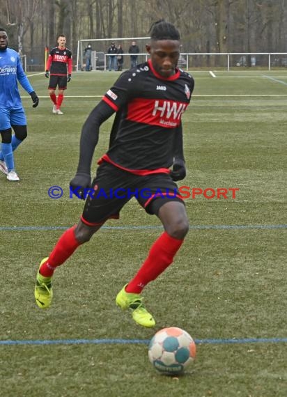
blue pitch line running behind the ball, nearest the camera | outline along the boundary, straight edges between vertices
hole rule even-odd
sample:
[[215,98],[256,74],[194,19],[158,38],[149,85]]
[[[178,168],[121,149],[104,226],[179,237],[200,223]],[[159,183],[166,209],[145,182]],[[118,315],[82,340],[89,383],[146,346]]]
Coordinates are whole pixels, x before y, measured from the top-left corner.
[[[240,343],[287,343],[287,338],[194,339],[196,345],[228,345]],[[149,339],[54,339],[0,341],[0,345],[147,345]]]

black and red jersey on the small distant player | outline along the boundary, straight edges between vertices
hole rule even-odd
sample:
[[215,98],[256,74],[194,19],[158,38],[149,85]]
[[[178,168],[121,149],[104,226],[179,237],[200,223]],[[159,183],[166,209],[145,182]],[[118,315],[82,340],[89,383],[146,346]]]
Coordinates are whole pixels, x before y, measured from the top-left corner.
[[49,53],[46,70],[50,75],[66,76],[72,74],[72,52],[70,49],[52,48]]

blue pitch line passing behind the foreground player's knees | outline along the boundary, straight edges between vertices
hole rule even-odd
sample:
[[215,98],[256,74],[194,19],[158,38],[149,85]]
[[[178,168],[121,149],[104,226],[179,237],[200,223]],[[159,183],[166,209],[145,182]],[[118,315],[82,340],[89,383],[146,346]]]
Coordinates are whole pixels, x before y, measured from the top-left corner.
[[[0,226],[0,231],[57,231],[66,230],[71,226]],[[286,229],[287,224],[278,225],[189,225],[191,229]],[[148,230],[162,229],[162,226],[102,226],[104,230]]]

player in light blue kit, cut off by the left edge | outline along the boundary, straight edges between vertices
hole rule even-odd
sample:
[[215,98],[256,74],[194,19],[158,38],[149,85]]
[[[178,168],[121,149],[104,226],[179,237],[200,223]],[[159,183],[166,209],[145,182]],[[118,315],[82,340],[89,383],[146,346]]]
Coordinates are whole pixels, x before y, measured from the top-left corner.
[[37,107],[39,98],[24,73],[20,56],[14,49],[8,48],[8,35],[0,28],[0,171],[12,181],[20,180],[15,171],[13,152],[27,136],[26,116],[17,80],[31,95],[33,107]]

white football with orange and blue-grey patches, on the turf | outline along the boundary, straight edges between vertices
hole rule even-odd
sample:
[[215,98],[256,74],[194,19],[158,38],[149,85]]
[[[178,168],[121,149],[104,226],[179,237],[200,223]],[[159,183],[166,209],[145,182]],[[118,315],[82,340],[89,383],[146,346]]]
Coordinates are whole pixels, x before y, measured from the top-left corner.
[[177,327],[163,328],[150,340],[148,358],[161,373],[179,375],[195,359],[192,336]]

